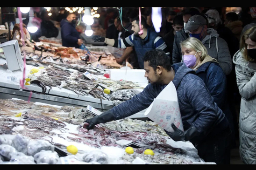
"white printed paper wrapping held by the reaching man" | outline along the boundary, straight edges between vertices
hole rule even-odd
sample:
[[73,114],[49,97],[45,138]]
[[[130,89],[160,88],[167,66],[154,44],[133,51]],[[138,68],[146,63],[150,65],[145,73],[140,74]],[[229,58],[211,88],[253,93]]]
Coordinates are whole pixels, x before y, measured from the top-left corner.
[[177,92],[172,82],[154,99],[154,102],[146,110],[145,116],[169,132],[174,132],[171,123],[174,123],[178,129],[184,131]]

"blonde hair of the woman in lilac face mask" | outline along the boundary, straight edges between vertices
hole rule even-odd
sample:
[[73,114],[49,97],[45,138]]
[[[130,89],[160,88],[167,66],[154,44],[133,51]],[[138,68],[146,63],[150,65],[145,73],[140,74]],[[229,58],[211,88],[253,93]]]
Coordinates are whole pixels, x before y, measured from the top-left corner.
[[200,55],[200,60],[203,61],[208,52],[206,47],[203,45],[203,43],[201,41],[199,41],[197,38],[194,37],[189,37],[186,40],[182,41],[180,43],[180,47],[181,48],[190,48],[192,50],[195,50],[197,52],[202,52],[202,54]]

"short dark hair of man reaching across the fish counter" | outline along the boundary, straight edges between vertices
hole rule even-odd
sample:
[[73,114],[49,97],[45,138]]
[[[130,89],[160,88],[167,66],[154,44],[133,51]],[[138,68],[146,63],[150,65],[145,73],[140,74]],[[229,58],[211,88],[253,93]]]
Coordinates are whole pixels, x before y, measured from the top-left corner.
[[171,71],[171,58],[161,49],[152,49],[146,52],[144,61],[149,61],[149,66],[156,70],[157,66],[162,66],[167,71]]

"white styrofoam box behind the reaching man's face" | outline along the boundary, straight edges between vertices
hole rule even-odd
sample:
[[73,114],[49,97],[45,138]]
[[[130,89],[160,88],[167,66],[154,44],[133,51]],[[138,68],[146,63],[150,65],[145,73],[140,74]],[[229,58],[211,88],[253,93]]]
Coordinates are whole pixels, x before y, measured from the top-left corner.
[[145,70],[144,69],[128,69],[127,73],[126,70],[121,69],[109,69],[108,70],[109,77],[112,80],[126,80],[135,83],[148,83],[149,81],[144,76]]

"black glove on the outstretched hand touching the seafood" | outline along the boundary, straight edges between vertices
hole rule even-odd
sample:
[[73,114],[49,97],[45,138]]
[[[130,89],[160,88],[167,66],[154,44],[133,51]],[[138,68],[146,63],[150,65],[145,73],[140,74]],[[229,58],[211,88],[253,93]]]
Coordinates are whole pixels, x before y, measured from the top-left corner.
[[111,113],[110,110],[107,110],[106,112],[103,112],[100,114],[100,116],[94,116],[91,119],[85,120],[85,122],[89,123],[88,126],[84,125],[84,128],[90,130],[93,128],[94,125],[99,123],[106,123],[115,120],[114,114]]

